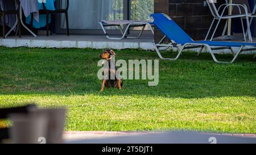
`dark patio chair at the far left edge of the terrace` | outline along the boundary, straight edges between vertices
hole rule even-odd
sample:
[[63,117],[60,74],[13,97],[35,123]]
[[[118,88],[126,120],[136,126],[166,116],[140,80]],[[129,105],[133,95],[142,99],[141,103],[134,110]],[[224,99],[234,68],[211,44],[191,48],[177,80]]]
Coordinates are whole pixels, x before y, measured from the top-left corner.
[[[5,10],[5,8],[11,8],[7,7],[5,5],[14,5],[11,10]],[[6,38],[8,33],[6,34],[6,15],[16,15],[16,22],[18,22],[18,31],[19,31],[19,37],[21,37],[21,29],[20,29],[20,19],[19,19],[19,1],[18,0],[0,0],[0,15],[2,17],[2,24],[3,24],[3,39]],[[16,8],[15,8],[16,7]]]

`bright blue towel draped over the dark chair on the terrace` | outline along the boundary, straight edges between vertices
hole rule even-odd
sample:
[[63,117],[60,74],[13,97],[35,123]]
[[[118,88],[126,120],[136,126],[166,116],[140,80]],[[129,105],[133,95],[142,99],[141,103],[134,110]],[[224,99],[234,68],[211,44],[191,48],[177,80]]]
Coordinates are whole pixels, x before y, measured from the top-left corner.
[[[55,10],[54,6],[55,0],[46,0],[46,3],[44,3],[44,6],[46,6],[47,10]],[[38,2],[38,9],[43,10],[43,4]],[[26,23],[31,23],[31,15],[26,18]],[[49,23],[51,23],[51,16],[49,16]],[[46,15],[39,15],[39,22],[36,20],[33,20],[33,27],[34,28],[41,28],[46,26]]]

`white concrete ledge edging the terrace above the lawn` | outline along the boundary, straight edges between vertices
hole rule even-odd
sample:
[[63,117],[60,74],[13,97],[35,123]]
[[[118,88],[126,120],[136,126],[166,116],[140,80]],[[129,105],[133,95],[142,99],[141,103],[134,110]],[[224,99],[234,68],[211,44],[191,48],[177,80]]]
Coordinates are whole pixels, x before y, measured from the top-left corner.
[[[154,51],[153,43],[122,41],[74,41],[74,40],[39,40],[39,39],[0,39],[0,45],[5,47],[37,47],[37,48],[93,48],[93,49],[143,49]],[[234,48],[238,50],[238,48]],[[197,52],[199,49],[193,49]],[[191,50],[190,50],[191,51]],[[204,49],[203,52],[208,52]],[[229,50],[218,50],[214,53],[230,53]],[[245,54],[253,54],[245,52]]]

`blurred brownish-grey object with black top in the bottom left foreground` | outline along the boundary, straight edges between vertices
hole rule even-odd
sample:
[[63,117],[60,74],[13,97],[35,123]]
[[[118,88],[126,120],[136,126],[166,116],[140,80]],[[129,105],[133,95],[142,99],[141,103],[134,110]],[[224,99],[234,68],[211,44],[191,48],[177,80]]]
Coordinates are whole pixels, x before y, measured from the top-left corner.
[[15,144],[63,143],[65,113],[65,108],[38,109],[35,105],[1,109],[0,119],[10,118],[13,126],[0,129],[0,143],[3,139]]

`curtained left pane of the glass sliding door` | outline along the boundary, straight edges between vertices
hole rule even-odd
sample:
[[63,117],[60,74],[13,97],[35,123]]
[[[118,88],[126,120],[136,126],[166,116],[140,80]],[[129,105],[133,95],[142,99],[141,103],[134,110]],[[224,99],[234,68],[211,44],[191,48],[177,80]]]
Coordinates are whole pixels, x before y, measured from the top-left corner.
[[[77,2],[79,1],[79,2]],[[61,6],[64,6],[62,3]],[[69,28],[100,29],[102,19],[123,19],[123,0],[73,0],[69,1]],[[60,28],[66,28],[65,16],[61,16]]]

